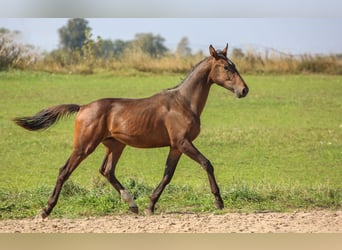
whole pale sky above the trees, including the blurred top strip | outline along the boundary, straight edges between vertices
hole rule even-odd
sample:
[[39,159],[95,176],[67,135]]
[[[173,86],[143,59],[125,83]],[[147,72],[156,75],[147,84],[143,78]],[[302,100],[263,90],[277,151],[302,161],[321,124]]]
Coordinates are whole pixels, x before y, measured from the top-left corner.
[[342,53],[341,0],[0,0],[0,28],[43,51],[58,48],[68,18],[89,21],[93,37],[134,39],[153,33],[174,50],[187,37],[208,46],[275,49],[290,54]]

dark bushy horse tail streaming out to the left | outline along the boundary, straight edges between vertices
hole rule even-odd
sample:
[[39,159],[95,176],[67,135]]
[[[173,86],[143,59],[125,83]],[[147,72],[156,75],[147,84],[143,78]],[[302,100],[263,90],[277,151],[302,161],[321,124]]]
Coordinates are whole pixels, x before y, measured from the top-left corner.
[[81,106],[77,104],[62,104],[39,111],[34,116],[17,117],[13,121],[31,131],[49,128],[62,117],[77,113]]

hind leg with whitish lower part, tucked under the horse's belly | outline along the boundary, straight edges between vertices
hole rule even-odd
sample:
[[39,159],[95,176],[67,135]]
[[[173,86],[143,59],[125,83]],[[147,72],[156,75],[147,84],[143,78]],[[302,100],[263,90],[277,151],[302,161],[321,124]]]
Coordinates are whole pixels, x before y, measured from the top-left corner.
[[121,198],[128,204],[129,210],[133,213],[138,213],[138,206],[134,202],[132,196],[115,176],[116,164],[126,145],[113,138],[106,139],[102,143],[107,148],[107,152],[100,167],[100,173],[106,177],[109,183],[119,192]]

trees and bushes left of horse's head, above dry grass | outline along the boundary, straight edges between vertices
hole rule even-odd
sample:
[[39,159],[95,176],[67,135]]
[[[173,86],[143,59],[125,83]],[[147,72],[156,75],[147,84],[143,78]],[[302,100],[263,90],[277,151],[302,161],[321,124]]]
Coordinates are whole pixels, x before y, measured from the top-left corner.
[[[37,58],[55,60],[62,66],[79,63],[81,58],[121,58],[125,52],[142,53],[151,58],[169,55],[171,51],[165,46],[165,39],[152,33],[137,33],[131,41],[93,38],[89,22],[83,18],[69,19],[67,24],[58,29],[59,48],[43,55],[38,55],[31,45],[15,42],[18,31],[0,28],[0,69],[22,67],[23,61],[35,62]],[[187,37],[181,38],[175,55],[187,57],[192,55]],[[28,62],[27,62],[28,63]],[[24,63],[25,64],[25,63]]]

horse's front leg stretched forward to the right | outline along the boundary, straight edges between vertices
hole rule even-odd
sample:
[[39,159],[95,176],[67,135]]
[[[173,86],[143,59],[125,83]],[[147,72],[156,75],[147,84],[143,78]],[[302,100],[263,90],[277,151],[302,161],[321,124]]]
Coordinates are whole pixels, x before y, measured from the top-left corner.
[[214,167],[211,164],[211,162],[206,157],[204,157],[202,153],[189,140],[181,140],[178,143],[178,148],[182,153],[186,154],[191,159],[198,162],[202,166],[202,168],[207,172],[210,183],[210,189],[215,197],[215,207],[218,209],[223,209],[224,203],[221,198],[220,189],[217,185],[214,175]]

